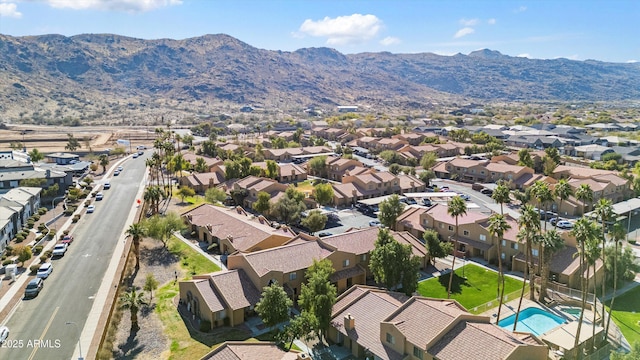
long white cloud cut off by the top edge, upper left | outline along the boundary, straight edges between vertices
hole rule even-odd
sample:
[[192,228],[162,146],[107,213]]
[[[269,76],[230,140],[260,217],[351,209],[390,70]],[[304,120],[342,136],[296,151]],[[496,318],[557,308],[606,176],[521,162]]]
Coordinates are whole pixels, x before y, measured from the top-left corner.
[[143,12],[157,8],[181,5],[182,0],[44,0],[54,8],[73,10],[113,10]]

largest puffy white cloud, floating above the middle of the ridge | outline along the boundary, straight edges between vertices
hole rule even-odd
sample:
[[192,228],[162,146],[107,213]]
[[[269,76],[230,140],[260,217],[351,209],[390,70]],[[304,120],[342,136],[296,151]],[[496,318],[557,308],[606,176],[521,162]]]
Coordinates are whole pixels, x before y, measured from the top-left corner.
[[345,45],[362,43],[376,36],[382,29],[382,20],[375,15],[353,14],[325,17],[322,20],[305,20],[300,29],[302,34],[315,37],[326,37],[327,44]]

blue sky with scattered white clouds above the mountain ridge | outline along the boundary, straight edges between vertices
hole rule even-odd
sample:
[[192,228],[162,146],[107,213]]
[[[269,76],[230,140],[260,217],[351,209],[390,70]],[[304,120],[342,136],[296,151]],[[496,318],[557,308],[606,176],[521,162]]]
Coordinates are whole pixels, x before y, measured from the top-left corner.
[[638,0],[0,0],[5,35],[228,34],[293,51],[468,54],[640,61]]

